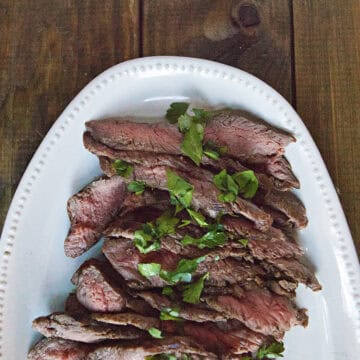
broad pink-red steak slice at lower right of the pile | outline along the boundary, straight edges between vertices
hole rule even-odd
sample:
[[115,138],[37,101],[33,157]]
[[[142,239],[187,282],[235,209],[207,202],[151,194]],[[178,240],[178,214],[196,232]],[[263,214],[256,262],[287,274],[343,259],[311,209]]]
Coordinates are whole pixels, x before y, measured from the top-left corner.
[[237,319],[249,329],[276,339],[281,339],[294,325],[307,325],[305,310],[297,309],[287,297],[265,289],[247,289],[236,297],[208,297],[206,302],[228,318]]

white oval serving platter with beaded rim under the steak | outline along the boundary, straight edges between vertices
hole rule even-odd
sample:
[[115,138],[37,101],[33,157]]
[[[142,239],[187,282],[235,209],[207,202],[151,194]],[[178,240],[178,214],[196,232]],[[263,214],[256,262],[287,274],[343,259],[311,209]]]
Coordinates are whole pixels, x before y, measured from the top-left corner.
[[0,358],[25,359],[39,339],[31,321],[62,309],[70,277],[98,247],[66,258],[67,199],[100,174],[82,145],[84,122],[113,115],[163,116],[173,101],[245,108],[293,133],[286,156],[301,182],[308,227],[299,233],[323,291],[300,287],[306,329],[285,338],[286,360],[360,359],[359,262],[343,210],[308,130],[270,86],[236,68],[201,59],[148,57],[115,65],[91,81],[42,141],[11,203],[0,241]]

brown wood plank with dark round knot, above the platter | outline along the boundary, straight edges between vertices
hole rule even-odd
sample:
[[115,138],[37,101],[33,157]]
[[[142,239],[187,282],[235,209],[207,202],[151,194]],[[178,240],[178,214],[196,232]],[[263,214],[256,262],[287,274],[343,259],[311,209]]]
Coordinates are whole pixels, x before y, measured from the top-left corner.
[[290,15],[287,0],[144,0],[143,54],[229,64],[291,101]]

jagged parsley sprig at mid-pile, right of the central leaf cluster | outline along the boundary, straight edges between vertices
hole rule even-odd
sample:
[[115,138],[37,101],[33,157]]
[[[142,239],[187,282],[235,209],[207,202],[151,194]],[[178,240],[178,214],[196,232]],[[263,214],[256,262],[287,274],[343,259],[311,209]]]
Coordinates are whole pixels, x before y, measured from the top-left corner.
[[195,245],[199,249],[214,248],[216,246],[224,245],[227,241],[227,235],[224,232],[224,226],[222,224],[212,224],[209,226],[209,231],[201,238],[195,239],[190,235],[185,235],[181,240],[181,244]]

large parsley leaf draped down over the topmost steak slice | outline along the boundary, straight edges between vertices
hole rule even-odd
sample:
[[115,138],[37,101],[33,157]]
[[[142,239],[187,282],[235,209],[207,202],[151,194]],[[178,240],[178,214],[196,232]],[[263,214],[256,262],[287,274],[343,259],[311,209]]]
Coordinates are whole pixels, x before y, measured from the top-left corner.
[[181,152],[188,156],[197,166],[200,165],[203,156],[203,138],[204,126],[202,124],[192,123],[185,132],[181,144]]

